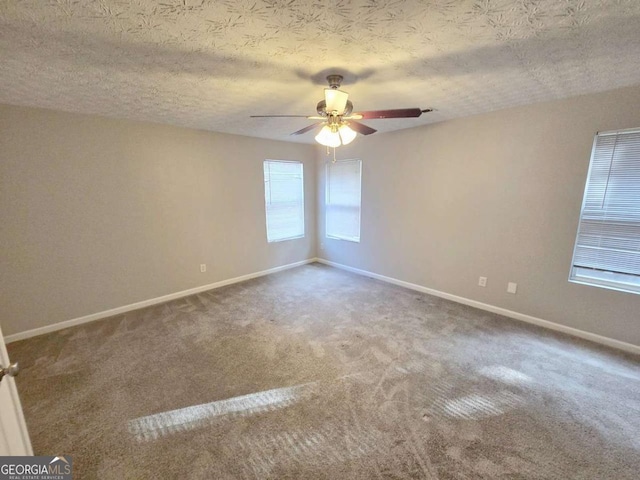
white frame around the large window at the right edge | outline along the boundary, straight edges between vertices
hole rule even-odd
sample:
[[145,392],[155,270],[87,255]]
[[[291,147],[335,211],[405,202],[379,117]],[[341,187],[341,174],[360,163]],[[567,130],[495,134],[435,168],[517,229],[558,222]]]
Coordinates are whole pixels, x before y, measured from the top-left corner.
[[[591,147],[591,156],[589,158],[589,170],[587,172],[587,178],[585,180],[585,186],[582,193],[582,206],[580,208],[580,216],[578,218],[578,226],[576,229],[575,243],[573,246],[573,254],[571,255],[571,265],[569,268],[569,282],[579,285],[588,285],[592,287],[599,287],[608,290],[615,290],[618,292],[640,294],[640,276],[636,276],[630,273],[621,273],[610,270],[598,270],[595,268],[576,266],[576,252],[579,247],[579,235],[584,217],[584,211],[587,204],[587,193],[591,182],[591,176],[594,169],[594,157],[596,154],[596,147],[598,144],[598,138],[608,135],[620,135],[640,133],[640,128],[628,128],[621,130],[610,130],[597,132],[593,138],[593,144]],[[615,146],[614,146],[615,149]],[[612,161],[613,161],[612,152]],[[638,159],[640,162],[640,158]],[[607,181],[607,186],[609,182]],[[625,281],[627,280],[627,281]]]

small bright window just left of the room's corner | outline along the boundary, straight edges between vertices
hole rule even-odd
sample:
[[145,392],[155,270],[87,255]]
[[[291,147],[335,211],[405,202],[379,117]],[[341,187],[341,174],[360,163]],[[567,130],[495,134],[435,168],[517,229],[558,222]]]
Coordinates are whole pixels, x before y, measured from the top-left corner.
[[303,185],[301,162],[264,161],[268,242],[304,237]]

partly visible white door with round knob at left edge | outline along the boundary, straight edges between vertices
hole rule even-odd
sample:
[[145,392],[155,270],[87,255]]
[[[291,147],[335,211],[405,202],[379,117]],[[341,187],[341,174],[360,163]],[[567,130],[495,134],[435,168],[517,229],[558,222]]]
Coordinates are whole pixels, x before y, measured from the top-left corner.
[[[0,368],[8,368],[9,365],[0,329]],[[10,375],[4,375],[0,380],[0,456],[6,455],[33,455],[16,382]]]

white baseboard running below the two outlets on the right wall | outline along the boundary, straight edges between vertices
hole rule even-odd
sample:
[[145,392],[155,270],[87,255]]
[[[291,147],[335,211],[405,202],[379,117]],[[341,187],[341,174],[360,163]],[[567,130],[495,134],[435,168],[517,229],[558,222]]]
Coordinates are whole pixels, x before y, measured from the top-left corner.
[[584,330],[579,330],[573,327],[567,327],[566,325],[560,325],[559,323],[554,323],[548,320],[543,320],[541,318],[532,317],[531,315],[525,315],[524,313],[514,312],[512,310],[507,310],[506,308],[496,307],[495,305],[489,305],[487,303],[477,302],[476,300],[471,300],[469,298],[459,297],[457,295],[451,295],[450,293],[441,292],[439,290],[433,290],[431,288],[423,287],[422,285],[417,285],[415,283],[409,283],[403,280],[398,280],[396,278],[385,277],[384,275],[379,275],[377,273],[368,272],[366,270],[360,270],[359,268],[349,267],[341,263],[331,262],[329,260],[325,260],[324,258],[318,258],[316,261],[319,263],[324,263],[325,265],[346,270],[348,272],[357,273],[358,275],[375,278],[376,280],[382,280],[383,282],[392,283],[394,285],[399,285],[401,287],[409,288],[411,290],[416,290],[418,292],[428,293],[429,295],[451,300],[456,303],[462,303],[463,305],[469,305],[470,307],[479,308],[480,310],[486,310],[487,312],[497,313],[499,315],[504,315],[505,317],[513,318],[515,320],[532,323],[534,325],[548,328],[550,330],[556,330],[558,332],[567,333],[569,335],[573,335],[574,337],[584,338],[592,342],[617,348],[618,350],[640,354],[639,345],[633,345],[631,343],[621,342],[620,340],[615,340],[609,337],[603,337],[602,335],[585,332]]

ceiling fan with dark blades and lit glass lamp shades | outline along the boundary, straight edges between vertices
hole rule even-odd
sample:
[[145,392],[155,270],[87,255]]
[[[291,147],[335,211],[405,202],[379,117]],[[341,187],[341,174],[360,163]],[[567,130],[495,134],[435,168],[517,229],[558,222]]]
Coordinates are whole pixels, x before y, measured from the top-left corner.
[[385,119],[385,118],[412,118],[419,117],[423,113],[433,109],[399,108],[395,110],[371,110],[353,113],[353,103],[349,100],[349,94],[340,90],[342,75],[328,75],[329,88],[324,89],[324,100],[320,100],[316,106],[318,115],[251,115],[251,118],[308,118],[319,120],[318,122],[301,128],[291,135],[302,135],[322,126],[316,135],[316,141],[327,147],[339,147],[351,143],[358,133],[371,135],[377,130],[358,120]]

